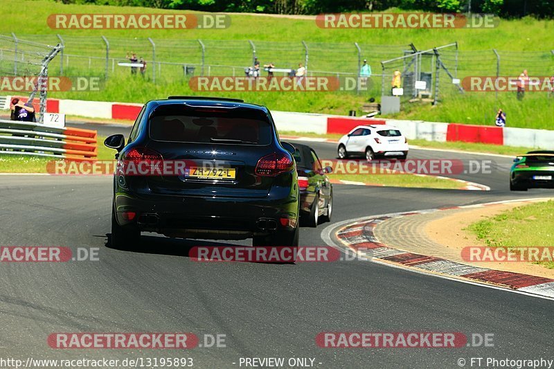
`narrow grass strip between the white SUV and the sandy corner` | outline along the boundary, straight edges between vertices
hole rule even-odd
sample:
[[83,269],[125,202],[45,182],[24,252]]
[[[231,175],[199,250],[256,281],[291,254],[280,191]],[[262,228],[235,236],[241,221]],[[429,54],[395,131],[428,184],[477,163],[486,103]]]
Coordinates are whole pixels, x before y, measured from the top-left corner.
[[329,174],[330,179],[356,181],[383,185],[387,187],[436,188],[456,190],[462,183],[433,176],[416,176],[414,174]]

